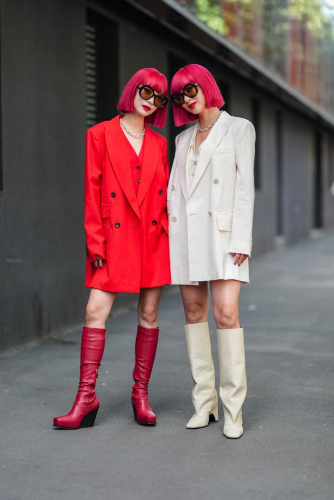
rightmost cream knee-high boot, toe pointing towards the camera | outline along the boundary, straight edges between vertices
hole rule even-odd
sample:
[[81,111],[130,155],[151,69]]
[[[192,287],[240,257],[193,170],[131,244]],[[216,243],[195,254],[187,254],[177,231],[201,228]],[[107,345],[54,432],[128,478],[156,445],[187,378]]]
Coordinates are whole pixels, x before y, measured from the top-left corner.
[[246,397],[246,366],[243,328],[217,329],[220,367],[219,396],[224,409],[224,435],[242,436],[241,406]]

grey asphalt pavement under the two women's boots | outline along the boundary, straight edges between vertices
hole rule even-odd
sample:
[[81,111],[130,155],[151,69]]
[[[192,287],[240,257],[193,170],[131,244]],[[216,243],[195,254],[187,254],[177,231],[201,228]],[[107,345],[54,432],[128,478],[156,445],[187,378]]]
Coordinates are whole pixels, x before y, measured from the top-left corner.
[[[180,295],[166,287],[149,398],[130,402],[137,315],[108,321],[89,429],[60,430],[78,387],[81,331],[0,356],[1,500],[331,500],[334,498],[334,233],[251,258],[242,287],[248,392],[244,435],[220,420],[188,430],[192,381]],[[215,326],[211,342],[218,387]]]

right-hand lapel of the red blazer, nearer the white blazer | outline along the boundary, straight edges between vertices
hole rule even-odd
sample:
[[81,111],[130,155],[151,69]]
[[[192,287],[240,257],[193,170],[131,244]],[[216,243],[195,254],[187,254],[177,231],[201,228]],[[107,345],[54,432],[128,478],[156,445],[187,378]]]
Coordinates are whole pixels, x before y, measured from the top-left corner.
[[146,125],[145,149],[143,160],[143,172],[138,189],[138,204],[145,198],[148,188],[156,172],[160,156],[159,140],[155,133]]

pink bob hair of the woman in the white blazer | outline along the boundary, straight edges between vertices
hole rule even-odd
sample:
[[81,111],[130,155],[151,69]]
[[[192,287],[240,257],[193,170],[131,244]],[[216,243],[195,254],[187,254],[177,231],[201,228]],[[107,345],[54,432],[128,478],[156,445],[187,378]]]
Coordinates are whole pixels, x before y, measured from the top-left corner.
[[[222,107],[225,103],[220,93],[216,80],[204,66],[188,64],[181,67],[173,76],[170,86],[171,93],[182,92],[187,83],[199,83],[204,92],[206,107]],[[189,113],[182,106],[173,102],[174,121],[176,126],[193,121],[196,115]]]

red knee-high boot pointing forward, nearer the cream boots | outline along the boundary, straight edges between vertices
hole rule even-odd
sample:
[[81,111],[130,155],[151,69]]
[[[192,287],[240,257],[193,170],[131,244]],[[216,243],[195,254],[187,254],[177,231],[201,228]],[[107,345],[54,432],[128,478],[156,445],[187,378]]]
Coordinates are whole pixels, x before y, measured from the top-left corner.
[[140,425],[154,425],[156,416],[148,401],[148,383],[158,345],[159,328],[144,328],[138,326],[135,366],[133,368],[132,405],[135,420]]

